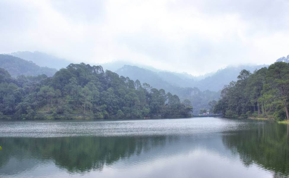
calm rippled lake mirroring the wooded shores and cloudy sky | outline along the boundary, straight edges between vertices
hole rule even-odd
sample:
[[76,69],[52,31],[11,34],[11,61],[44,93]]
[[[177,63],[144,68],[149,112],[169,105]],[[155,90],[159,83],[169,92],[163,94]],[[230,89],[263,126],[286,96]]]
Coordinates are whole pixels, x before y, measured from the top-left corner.
[[0,177],[288,177],[289,125],[214,117],[0,121]]

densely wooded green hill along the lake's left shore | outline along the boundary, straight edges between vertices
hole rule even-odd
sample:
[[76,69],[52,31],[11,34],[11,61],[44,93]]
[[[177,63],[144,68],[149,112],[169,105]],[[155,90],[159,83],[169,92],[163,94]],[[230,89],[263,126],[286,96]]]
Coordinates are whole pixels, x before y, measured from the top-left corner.
[[0,70],[0,118],[94,119],[187,117],[189,100],[157,90],[149,84],[102,69],[102,66],[70,64],[53,77],[18,76]]

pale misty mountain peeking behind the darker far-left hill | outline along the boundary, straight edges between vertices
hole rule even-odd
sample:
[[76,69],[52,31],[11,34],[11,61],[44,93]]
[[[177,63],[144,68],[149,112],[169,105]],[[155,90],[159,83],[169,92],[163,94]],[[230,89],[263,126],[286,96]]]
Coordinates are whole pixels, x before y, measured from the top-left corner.
[[34,51],[34,52],[18,51],[15,53],[11,53],[10,55],[13,55],[15,57],[18,57],[27,61],[32,61],[38,66],[46,66],[46,67],[55,68],[55,69],[65,68],[71,63],[65,59],[57,58],[53,55],[41,53],[39,51]]

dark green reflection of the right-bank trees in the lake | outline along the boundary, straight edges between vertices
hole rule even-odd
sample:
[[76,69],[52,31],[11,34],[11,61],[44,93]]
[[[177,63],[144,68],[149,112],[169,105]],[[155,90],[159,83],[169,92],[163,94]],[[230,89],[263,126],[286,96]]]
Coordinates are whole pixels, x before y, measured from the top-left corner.
[[289,125],[267,123],[257,129],[235,131],[224,134],[223,143],[240,155],[245,166],[257,163],[277,172],[275,177],[289,175]]

